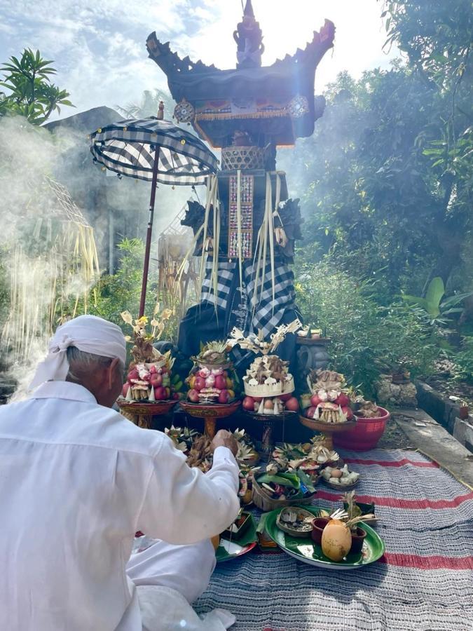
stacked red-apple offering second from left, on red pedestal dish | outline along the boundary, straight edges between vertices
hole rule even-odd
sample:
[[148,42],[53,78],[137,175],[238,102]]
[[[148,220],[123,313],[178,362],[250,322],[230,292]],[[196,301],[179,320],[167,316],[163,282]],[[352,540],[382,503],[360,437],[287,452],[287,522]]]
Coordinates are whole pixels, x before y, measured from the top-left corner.
[[225,341],[212,341],[203,347],[186,379],[191,403],[229,403],[235,399],[235,374],[226,354]]

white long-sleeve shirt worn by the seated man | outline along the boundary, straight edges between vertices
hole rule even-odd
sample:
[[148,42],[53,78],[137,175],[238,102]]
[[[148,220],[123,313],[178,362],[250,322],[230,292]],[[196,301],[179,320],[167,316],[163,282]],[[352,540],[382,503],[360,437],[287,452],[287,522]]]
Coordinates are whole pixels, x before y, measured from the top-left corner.
[[135,532],[209,538],[238,514],[237,491],[229,449],[204,475],[82,386],[50,381],[0,407],[0,629],[141,631]]

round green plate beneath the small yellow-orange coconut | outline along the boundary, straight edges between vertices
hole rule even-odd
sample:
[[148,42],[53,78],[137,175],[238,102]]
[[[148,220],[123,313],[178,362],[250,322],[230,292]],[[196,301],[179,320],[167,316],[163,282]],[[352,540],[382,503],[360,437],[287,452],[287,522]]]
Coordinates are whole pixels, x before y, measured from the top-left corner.
[[[293,507],[295,508],[295,507]],[[301,506],[304,510],[313,513],[314,517],[320,514],[320,508],[315,506]],[[362,552],[348,553],[340,562],[331,561],[322,552],[320,545],[317,545],[311,538],[299,539],[280,530],[276,525],[277,515],[282,509],[271,511],[266,517],[266,532],[279,547],[287,552],[294,559],[298,559],[309,565],[316,565],[330,570],[350,570],[377,561],[383,556],[385,546],[380,536],[367,524],[361,522],[359,525],[366,530]]]

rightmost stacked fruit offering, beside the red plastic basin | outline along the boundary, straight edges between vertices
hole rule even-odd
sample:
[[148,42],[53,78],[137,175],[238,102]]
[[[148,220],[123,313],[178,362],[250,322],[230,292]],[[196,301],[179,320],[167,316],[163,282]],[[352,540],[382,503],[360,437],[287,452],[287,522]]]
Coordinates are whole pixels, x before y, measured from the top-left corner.
[[343,374],[333,370],[313,370],[307,377],[311,395],[303,395],[304,415],[323,423],[345,423],[353,417]]

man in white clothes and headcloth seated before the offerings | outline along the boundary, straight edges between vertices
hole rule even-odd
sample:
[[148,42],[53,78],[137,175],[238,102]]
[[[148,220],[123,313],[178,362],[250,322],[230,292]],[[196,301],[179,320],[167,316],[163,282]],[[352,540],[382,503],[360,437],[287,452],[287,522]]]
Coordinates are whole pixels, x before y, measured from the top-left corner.
[[[219,432],[212,470],[189,468],[167,436],[111,409],[124,365],[119,327],[75,318],[31,397],[0,408],[2,631],[161,629],[150,585],[183,607],[208,585],[210,537],[240,508],[236,444]],[[137,531],[158,541],[131,555]]]

